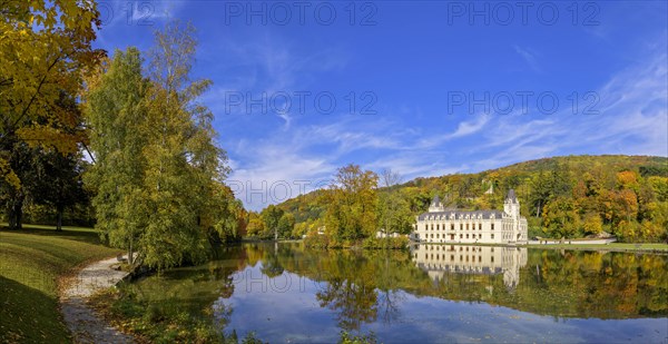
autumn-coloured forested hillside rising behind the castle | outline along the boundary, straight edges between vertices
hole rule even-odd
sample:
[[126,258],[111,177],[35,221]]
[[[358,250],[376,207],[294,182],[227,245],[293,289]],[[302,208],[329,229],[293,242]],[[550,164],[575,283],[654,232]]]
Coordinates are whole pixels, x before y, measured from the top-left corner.
[[[623,242],[658,242],[668,237],[668,158],[647,156],[553,157],[381,187],[375,205],[377,227],[387,224],[387,216],[382,214],[405,219],[425,212],[434,195],[461,209],[501,209],[509,188],[515,189],[521,213],[529,220],[530,237],[573,238],[601,232]],[[267,236],[271,226],[263,219],[269,215],[276,217],[275,222],[289,219],[283,222],[282,237],[316,230],[325,226],[331,193],[316,190],[252,214],[248,234],[263,236],[264,232]],[[395,223],[396,226],[386,227],[411,230],[405,222]]]

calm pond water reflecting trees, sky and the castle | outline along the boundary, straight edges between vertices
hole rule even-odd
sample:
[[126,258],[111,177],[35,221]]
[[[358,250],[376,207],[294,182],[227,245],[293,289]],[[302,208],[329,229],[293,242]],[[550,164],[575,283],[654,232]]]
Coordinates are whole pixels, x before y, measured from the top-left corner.
[[668,343],[667,263],[499,246],[245,244],[129,287],[271,343],[336,342],[341,331],[383,343]]

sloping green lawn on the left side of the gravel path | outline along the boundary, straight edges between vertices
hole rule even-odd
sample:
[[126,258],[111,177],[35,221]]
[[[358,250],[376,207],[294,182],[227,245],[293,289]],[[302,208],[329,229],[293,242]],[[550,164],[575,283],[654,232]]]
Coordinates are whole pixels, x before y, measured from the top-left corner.
[[71,342],[58,311],[59,277],[119,252],[100,245],[92,228],[0,229],[0,343]]

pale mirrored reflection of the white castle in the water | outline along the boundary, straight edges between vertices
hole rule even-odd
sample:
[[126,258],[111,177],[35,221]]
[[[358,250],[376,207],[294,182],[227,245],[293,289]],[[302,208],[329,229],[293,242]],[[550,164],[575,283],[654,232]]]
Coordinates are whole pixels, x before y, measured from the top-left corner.
[[527,265],[527,248],[464,246],[464,245],[414,245],[411,255],[415,265],[438,282],[446,274],[503,274],[503,284],[514,288],[520,282],[520,268]]

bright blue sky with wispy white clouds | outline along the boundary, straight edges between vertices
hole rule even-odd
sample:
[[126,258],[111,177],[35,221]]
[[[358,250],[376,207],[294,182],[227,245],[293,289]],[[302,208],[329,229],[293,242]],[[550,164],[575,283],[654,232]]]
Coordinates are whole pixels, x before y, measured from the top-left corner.
[[407,181],[549,156],[668,156],[666,1],[101,1],[100,11],[96,45],[108,51],[147,50],[170,19],[195,24],[193,72],[214,81],[200,101],[250,209],[348,163]]

